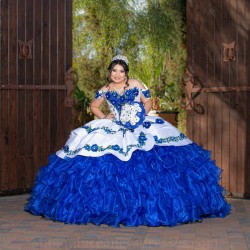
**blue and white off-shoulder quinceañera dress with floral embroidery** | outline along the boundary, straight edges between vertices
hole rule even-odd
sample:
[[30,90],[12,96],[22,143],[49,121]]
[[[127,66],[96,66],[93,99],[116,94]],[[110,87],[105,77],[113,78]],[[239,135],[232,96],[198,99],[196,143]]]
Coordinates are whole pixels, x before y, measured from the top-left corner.
[[174,226],[224,217],[231,206],[210,153],[170,123],[145,115],[140,96],[97,91],[115,119],[72,131],[37,175],[25,210],[56,221],[117,227]]

